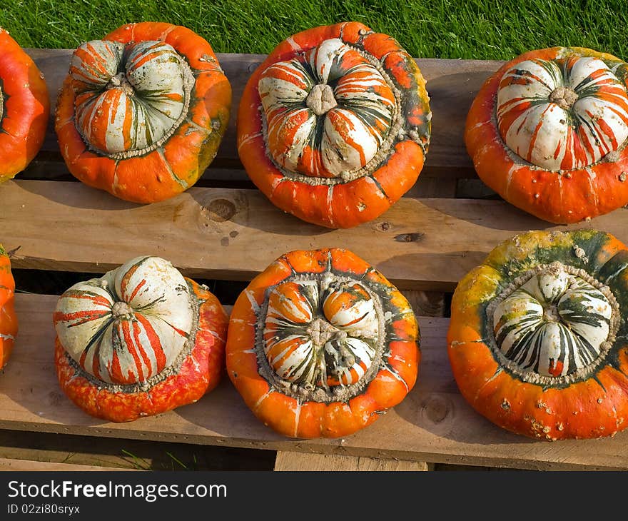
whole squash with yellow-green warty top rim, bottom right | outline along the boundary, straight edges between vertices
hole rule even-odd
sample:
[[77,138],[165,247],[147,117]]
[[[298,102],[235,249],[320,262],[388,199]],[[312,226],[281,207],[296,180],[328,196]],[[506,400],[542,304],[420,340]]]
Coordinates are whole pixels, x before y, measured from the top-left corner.
[[452,298],[460,392],[513,433],[612,436],[628,425],[628,248],[607,233],[531,231],[497,246]]

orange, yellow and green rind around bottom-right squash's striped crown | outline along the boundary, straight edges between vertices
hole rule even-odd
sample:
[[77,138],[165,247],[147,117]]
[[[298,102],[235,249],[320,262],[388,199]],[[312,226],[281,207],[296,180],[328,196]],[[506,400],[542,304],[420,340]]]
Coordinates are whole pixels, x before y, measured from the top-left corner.
[[[501,428],[545,440],[612,436],[624,429],[624,418],[628,418],[627,260],[626,246],[607,233],[591,230],[522,233],[497,246],[485,263],[462,278],[452,299],[448,353],[467,402]],[[545,376],[523,370],[504,355],[492,317],[504,295],[512,295],[522,285],[522,278],[552,263],[561,263],[567,272],[589,280],[607,295],[613,310],[597,358],[584,367],[573,365],[571,373]],[[551,313],[543,316],[546,324],[557,320]],[[569,313],[560,316],[569,320]],[[577,328],[578,319],[572,320],[572,327]],[[544,344],[540,345],[542,350]]]

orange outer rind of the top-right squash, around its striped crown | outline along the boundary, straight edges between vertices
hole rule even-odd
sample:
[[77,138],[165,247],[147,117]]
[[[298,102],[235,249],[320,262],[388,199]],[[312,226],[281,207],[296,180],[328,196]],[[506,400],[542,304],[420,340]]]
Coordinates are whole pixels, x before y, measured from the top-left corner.
[[465,143],[477,175],[513,206],[552,223],[577,223],[628,203],[627,141],[589,166],[547,170],[512,151],[496,119],[497,92],[505,73],[522,61],[552,61],[564,56],[599,59],[628,86],[628,68],[611,54],[580,47],[529,51],[508,61],[485,81],[465,125]]

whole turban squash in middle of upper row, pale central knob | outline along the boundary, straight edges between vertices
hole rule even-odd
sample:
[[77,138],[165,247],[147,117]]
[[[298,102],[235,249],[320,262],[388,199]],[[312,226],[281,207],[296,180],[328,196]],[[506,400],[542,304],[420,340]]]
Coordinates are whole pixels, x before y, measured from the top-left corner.
[[250,76],[238,153],[275,206],[350,228],[415,183],[430,118],[425,80],[393,38],[357,22],[321,26],[290,36]]

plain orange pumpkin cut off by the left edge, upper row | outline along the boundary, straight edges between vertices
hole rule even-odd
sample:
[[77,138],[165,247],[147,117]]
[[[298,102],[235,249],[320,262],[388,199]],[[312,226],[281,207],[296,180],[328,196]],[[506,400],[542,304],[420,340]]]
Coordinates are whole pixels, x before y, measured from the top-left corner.
[[23,171],[37,155],[49,114],[44,75],[0,28],[0,183]]

